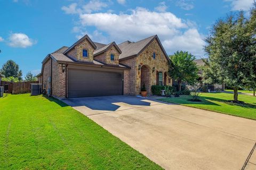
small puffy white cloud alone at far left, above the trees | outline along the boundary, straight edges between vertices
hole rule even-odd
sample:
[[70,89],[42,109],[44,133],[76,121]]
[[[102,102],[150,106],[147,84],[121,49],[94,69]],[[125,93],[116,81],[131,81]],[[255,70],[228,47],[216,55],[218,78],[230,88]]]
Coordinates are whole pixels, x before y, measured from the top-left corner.
[[36,41],[30,39],[25,33],[12,33],[7,44],[11,47],[26,48],[36,44]]

